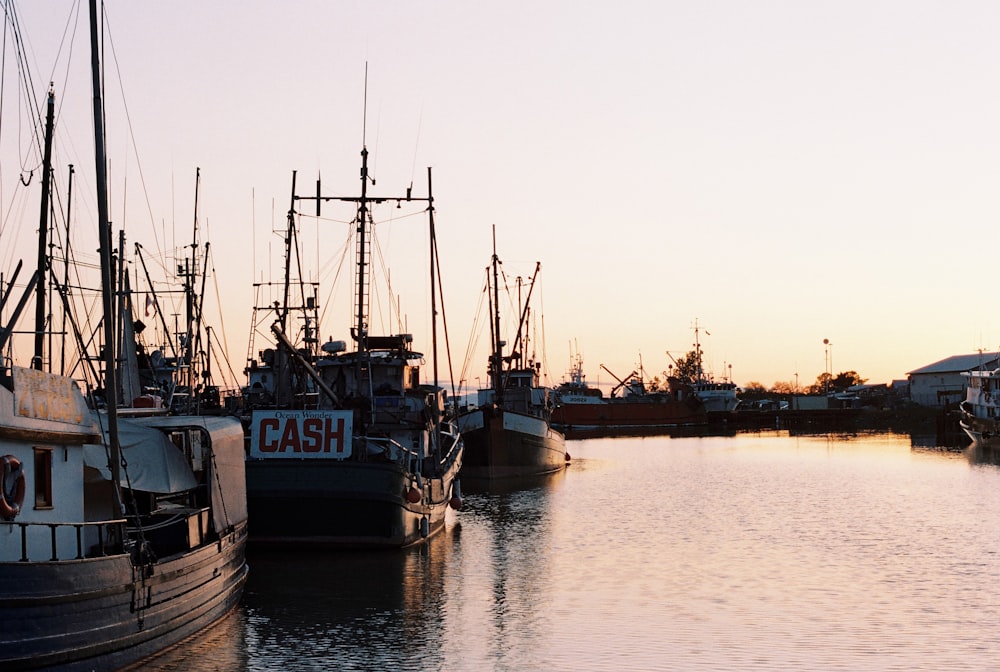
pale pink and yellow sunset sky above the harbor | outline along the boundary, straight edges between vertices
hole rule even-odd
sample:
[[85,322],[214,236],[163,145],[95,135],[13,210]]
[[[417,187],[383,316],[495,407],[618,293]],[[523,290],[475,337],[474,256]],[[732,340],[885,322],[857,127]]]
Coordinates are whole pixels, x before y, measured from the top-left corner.
[[[40,187],[21,180],[40,165],[31,110],[49,82],[56,188],[65,205],[74,164],[74,245],[97,247],[86,2],[13,6],[5,278],[35,263]],[[494,225],[510,277],[542,263],[534,348],[552,384],[572,352],[591,383],[640,359],[661,375],[696,322],[706,368],[740,385],[808,385],[828,352],[834,374],[887,383],[1000,349],[1000,3],[110,0],[106,16],[112,220],[169,269],[192,239],[200,168],[207,317],[233,384],[252,284],[280,275],[292,171],[353,195],[363,141],[376,194],[425,195],[433,168],[456,377]],[[375,212],[392,300],[429,353],[426,218],[394,210]],[[304,272],[347,291],[350,215],[302,235]],[[322,338],[347,340],[349,300],[328,303]]]

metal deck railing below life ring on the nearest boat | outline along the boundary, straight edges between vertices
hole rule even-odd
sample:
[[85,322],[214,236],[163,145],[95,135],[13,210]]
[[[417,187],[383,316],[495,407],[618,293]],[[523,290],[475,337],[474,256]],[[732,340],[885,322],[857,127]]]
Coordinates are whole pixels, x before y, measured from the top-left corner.
[[[21,545],[20,562],[37,561],[32,556],[40,555],[41,549],[46,546],[48,546],[46,560],[50,562],[83,560],[88,557],[117,555],[123,552],[124,519],[84,523],[7,522],[4,525],[17,528]],[[35,534],[45,528],[48,528],[47,533]],[[72,530],[72,532],[66,535],[60,534],[60,530]],[[47,536],[47,541],[42,541],[43,535]],[[96,540],[92,542],[91,539],[95,536]]]

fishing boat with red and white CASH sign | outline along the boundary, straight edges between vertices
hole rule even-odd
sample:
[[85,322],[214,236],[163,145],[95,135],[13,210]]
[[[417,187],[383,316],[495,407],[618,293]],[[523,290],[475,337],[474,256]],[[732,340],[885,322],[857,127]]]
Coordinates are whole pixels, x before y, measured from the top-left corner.
[[[255,309],[254,324],[270,314],[273,347],[246,369],[249,450],[247,496],[250,542],[259,546],[405,547],[443,529],[449,506],[459,508],[458,473],[464,444],[437,383],[421,380],[423,354],[409,333],[369,333],[369,278],[375,235],[373,206],[422,202],[429,219],[432,315],[437,315],[437,243],[428,169],[428,195],[386,199],[368,193],[368,150],[361,151],[359,196],[300,196],[292,177],[286,229],[283,298],[271,313]],[[372,182],[374,184],[374,182]],[[349,230],[356,250],[353,348],[343,340],[318,345],[315,286],[296,283],[296,206],[325,201],[356,207]],[[349,248],[345,248],[349,249]],[[301,322],[293,320],[293,316]]]

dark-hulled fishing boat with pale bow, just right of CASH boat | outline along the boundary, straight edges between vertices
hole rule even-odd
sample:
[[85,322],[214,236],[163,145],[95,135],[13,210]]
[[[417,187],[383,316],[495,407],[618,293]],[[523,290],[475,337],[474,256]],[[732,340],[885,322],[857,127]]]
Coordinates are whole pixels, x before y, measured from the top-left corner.
[[492,318],[489,387],[478,391],[475,407],[458,416],[465,440],[462,477],[467,481],[539,476],[563,469],[567,460],[566,439],[551,425],[554,400],[551,390],[541,385],[541,362],[525,355],[531,295],[541,264],[535,265],[524,305],[519,306],[517,332],[507,355],[501,335],[499,266],[494,229],[486,282]]

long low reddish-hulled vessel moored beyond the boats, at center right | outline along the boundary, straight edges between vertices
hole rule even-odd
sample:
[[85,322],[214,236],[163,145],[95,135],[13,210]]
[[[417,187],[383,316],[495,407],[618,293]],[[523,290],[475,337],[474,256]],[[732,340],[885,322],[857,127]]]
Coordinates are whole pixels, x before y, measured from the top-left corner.
[[571,362],[570,380],[556,388],[553,425],[567,437],[576,438],[655,433],[707,422],[704,403],[690,385],[676,378],[667,381],[665,391],[649,390],[643,376],[635,371],[616,380],[618,385],[605,397],[584,381],[583,360],[577,355]]

